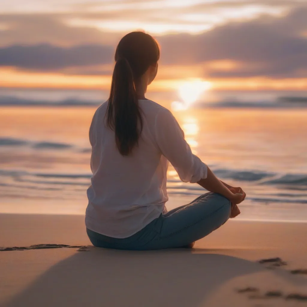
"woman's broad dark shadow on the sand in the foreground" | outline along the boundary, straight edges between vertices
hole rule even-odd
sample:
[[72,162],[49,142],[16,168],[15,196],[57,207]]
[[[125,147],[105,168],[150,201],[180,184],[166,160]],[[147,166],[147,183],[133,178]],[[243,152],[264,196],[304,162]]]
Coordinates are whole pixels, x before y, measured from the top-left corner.
[[263,270],[255,262],[190,250],[89,250],[58,262],[2,307],[192,307],[227,280]]

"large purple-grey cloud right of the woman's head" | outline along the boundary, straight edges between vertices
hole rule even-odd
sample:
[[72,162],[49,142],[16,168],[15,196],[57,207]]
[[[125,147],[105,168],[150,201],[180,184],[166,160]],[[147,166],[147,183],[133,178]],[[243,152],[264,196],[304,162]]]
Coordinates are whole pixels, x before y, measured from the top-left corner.
[[[160,37],[161,62],[194,64],[233,60],[243,68],[228,72],[211,71],[209,76],[306,76],[307,7],[285,17],[261,17],[232,22],[201,35]],[[245,65],[244,65],[245,64]],[[250,68],[249,68],[250,67]]]

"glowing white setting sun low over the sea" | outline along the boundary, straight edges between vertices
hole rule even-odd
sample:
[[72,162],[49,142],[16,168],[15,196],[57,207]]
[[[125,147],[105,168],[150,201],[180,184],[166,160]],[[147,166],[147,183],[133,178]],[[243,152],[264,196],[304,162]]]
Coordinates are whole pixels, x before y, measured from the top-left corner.
[[210,82],[199,79],[182,82],[178,88],[178,94],[182,102],[174,101],[172,103],[172,108],[176,111],[188,109],[188,107],[199,98],[200,94],[204,91],[208,91],[210,87]]

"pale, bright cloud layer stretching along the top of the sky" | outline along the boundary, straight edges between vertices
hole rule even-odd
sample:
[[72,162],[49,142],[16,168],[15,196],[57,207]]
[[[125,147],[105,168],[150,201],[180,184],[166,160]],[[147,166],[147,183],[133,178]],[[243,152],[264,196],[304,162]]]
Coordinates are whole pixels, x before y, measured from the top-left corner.
[[[20,1],[20,6],[16,5]],[[49,43],[115,44],[131,27],[143,27],[151,33],[192,33],[210,29],[230,20],[257,18],[260,14],[277,14],[297,6],[300,0],[216,0],[209,2],[179,0],[96,1],[54,0],[37,7],[45,12],[22,14],[24,0],[0,4],[0,45]],[[30,1],[31,2],[31,1]],[[40,3],[38,3],[40,2]],[[68,3],[69,2],[69,3]],[[30,3],[33,7],[33,2]],[[51,5],[51,6],[50,6]],[[4,7],[3,7],[4,6]],[[5,7],[17,7],[19,14],[6,13]],[[49,7],[49,8],[48,8]],[[52,13],[52,7],[58,12]],[[38,9],[38,8],[37,8]],[[62,13],[60,13],[62,12]],[[68,26],[69,23],[78,27]],[[6,29],[1,31],[1,28]]]

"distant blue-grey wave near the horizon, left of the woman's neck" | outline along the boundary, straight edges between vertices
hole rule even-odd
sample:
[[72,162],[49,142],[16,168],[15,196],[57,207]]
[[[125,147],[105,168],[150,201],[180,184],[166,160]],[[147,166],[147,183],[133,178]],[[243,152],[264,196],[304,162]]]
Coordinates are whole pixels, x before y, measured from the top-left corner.
[[65,106],[99,106],[102,100],[68,98],[63,100],[33,100],[14,96],[0,96],[0,106],[46,106],[46,107],[65,107]]

